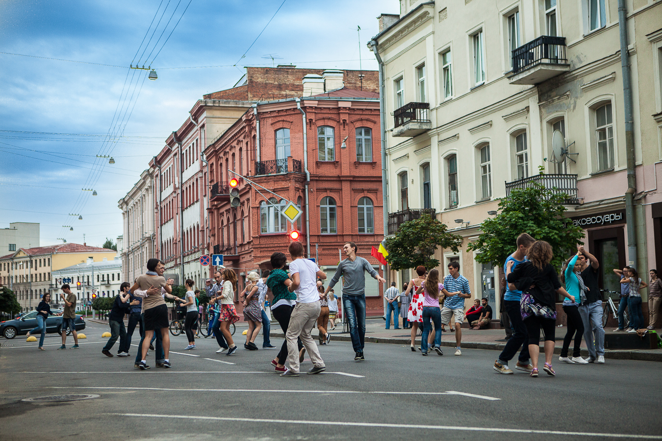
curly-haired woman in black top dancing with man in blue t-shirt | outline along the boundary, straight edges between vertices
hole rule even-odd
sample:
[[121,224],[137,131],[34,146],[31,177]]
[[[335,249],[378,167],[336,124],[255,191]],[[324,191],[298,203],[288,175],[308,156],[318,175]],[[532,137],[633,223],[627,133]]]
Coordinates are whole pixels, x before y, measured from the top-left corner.
[[[538,355],[540,354],[540,329],[545,335],[545,366],[547,375],[555,376],[551,367],[554,353],[554,332],[556,328],[556,294],[575,301],[559,282],[559,277],[551,266],[554,253],[545,241],[536,241],[528,249],[528,261],[512,269],[514,262],[506,265],[506,280],[518,290],[522,290],[520,313],[529,335],[529,354],[533,370],[532,377],[538,376]],[[533,288],[532,288],[533,286]]]

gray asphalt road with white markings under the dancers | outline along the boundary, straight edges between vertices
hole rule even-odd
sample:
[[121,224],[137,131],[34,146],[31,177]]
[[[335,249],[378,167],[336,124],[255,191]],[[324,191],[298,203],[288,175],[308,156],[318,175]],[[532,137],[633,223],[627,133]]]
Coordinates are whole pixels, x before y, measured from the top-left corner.
[[[530,378],[497,374],[491,350],[423,357],[408,346],[367,344],[366,361],[354,362],[349,342],[332,341],[320,348],[325,374],[281,378],[269,365],[276,350],[217,355],[214,339],[197,339],[189,352],[181,336],[171,339],[173,368],[154,368],[152,352],[152,369],[140,371],[135,347],[131,357],[101,354],[106,330],[88,323],[76,350],[56,350],[59,336],[47,337],[45,351],[24,338],[0,341],[1,440],[662,439],[655,362],[555,358],[555,378]],[[21,401],[62,394],[99,397]]]

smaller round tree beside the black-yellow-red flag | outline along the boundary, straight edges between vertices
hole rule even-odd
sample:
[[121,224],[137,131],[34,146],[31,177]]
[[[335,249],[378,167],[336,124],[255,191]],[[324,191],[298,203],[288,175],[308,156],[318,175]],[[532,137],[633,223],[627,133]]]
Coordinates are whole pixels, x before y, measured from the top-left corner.
[[423,265],[426,268],[439,266],[434,259],[434,252],[447,248],[457,253],[462,238],[449,233],[448,227],[432,216],[424,215],[420,219],[403,222],[395,236],[386,239],[389,252],[386,260],[391,269],[402,270]]

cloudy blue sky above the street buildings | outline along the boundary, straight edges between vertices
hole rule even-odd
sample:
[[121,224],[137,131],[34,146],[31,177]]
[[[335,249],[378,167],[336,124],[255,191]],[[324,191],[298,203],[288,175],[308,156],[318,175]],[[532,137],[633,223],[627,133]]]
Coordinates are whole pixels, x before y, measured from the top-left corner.
[[381,13],[399,1],[0,0],[0,228],[115,241],[118,201],[198,99],[248,65],[377,70]]

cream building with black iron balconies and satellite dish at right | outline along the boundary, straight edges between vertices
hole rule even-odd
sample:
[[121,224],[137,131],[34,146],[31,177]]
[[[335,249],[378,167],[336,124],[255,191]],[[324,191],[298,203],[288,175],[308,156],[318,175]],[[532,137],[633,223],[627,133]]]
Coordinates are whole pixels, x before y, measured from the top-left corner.
[[[662,1],[626,3],[637,260],[645,271],[662,258],[647,247],[653,243],[651,210],[662,200],[655,184],[662,178]],[[602,260],[603,286],[618,288],[607,276],[628,256],[617,5],[402,0],[399,15],[379,17],[371,46],[384,69],[389,234],[420,210],[434,210],[464,238],[459,254],[439,251],[440,270],[446,274],[448,262],[458,260],[474,296],[489,296],[495,311],[499,268],[475,262],[467,244],[497,210],[499,198],[532,182],[569,194],[567,216],[585,227],[587,247]],[[553,155],[554,130],[572,153],[563,161]],[[659,230],[659,220],[657,225]],[[400,283],[409,276],[392,274]]]

